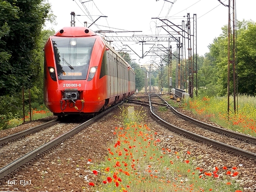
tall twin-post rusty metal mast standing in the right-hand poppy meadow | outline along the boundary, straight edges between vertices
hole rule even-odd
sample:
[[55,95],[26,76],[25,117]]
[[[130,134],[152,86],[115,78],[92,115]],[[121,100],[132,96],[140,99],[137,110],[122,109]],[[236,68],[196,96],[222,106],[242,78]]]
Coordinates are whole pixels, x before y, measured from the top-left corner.
[[[233,98],[234,98],[234,113],[236,113],[236,73],[235,73],[235,0],[232,0],[232,13],[231,5],[228,0],[228,47],[227,47],[227,115],[229,116],[229,95],[230,95],[230,64],[233,69]],[[231,16],[232,16],[232,30],[231,30]],[[231,40],[232,37],[232,40]],[[232,49],[231,49],[232,48]],[[231,49],[231,50],[230,50]]]

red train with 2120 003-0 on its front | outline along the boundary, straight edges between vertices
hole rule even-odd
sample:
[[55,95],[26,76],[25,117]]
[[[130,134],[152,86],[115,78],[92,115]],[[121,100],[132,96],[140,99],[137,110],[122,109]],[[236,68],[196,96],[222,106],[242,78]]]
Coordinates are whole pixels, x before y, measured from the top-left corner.
[[44,104],[54,115],[95,115],[134,91],[134,70],[90,29],[65,27],[47,40]]

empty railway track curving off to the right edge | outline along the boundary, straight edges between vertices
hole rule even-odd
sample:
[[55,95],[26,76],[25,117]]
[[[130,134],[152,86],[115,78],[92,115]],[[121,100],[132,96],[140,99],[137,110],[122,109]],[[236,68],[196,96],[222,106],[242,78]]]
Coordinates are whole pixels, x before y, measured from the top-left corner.
[[[158,97],[157,99],[152,99],[152,97],[156,96]],[[237,156],[250,158],[256,162],[255,137],[230,131],[224,128],[215,127],[195,120],[184,114],[181,114],[158,95],[148,95],[148,100],[146,101],[128,99],[128,102],[143,103],[144,105],[149,106],[151,116],[156,119],[156,121],[158,121],[161,125],[170,129],[173,132],[182,134],[185,137],[188,137],[198,142],[208,143],[208,145],[213,145],[218,149],[226,150],[230,153],[236,154]],[[173,121],[171,122],[171,124],[168,123],[167,121],[159,117],[163,117],[163,115],[159,114],[157,110],[158,106],[168,107],[174,115],[182,118],[182,120],[178,120],[177,118],[177,121]],[[191,124],[194,125],[192,128],[190,128]],[[224,141],[226,142],[224,143]]]

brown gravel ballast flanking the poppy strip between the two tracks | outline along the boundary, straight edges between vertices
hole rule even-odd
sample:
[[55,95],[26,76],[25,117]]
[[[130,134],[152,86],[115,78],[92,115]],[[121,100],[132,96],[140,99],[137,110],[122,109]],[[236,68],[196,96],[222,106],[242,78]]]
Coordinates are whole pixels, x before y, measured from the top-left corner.
[[[143,97],[143,100],[147,98],[148,96]],[[152,102],[153,108],[158,106],[167,107],[160,103],[160,100],[154,98],[152,100],[154,100]],[[124,107],[129,106],[133,106],[136,111],[142,111],[143,113],[150,110],[148,105],[144,107],[140,104],[124,104]],[[8,185],[4,183],[0,186],[0,191],[81,191],[83,187],[84,191],[91,192],[93,189],[91,189],[88,182],[94,182],[96,178],[90,169],[90,164],[105,160],[108,154],[108,143],[112,143],[116,138],[116,134],[113,134],[116,130],[115,127],[122,126],[123,120],[120,117],[120,110],[122,111],[122,108],[116,108],[109,114],[104,115],[99,121],[61,143],[55,150],[45,154],[33,165],[29,165],[28,168],[9,179],[9,182],[16,181],[18,183],[25,180],[31,185]],[[168,115],[169,111],[165,111],[164,114]],[[222,175],[225,175],[225,170],[221,170],[221,167],[226,166],[231,169],[236,166],[239,175],[231,178],[236,179],[239,183],[242,182],[244,192],[252,192],[252,189],[256,187],[254,183],[256,169],[253,160],[234,156],[224,150],[216,150],[215,147],[205,143],[198,144],[198,142],[167,130],[153,118],[150,118],[149,113],[146,114],[147,116],[145,116],[142,124],[148,124],[153,133],[157,133],[155,138],[158,140],[160,149],[170,149],[171,152],[168,155],[172,158],[176,157],[176,152],[182,156],[183,153],[187,154],[187,151],[190,151],[194,166],[203,168],[203,172],[211,172],[217,166],[220,168],[220,179]],[[89,162],[89,159],[92,161]]]

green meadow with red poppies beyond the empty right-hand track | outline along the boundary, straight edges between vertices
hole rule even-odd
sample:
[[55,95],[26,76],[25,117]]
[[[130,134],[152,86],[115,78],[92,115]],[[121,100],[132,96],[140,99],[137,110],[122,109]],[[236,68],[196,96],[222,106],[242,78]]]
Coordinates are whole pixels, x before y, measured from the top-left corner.
[[[232,99],[230,97],[230,104]],[[191,110],[195,115],[208,119],[244,134],[256,136],[256,102],[255,97],[239,96],[237,112],[235,113],[232,105],[227,114],[226,97],[202,97],[190,98],[183,107]]]

